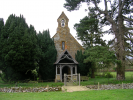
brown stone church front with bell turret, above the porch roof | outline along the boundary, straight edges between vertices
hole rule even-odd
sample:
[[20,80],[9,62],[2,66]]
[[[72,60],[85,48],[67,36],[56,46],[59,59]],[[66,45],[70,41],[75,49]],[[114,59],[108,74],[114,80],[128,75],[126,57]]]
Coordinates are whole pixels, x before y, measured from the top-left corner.
[[56,34],[53,36],[54,44],[57,50],[57,59],[60,58],[62,53],[67,50],[69,54],[75,59],[75,53],[77,50],[83,49],[82,46],[71,35],[68,27],[69,19],[64,12],[61,13],[57,19],[58,27]]

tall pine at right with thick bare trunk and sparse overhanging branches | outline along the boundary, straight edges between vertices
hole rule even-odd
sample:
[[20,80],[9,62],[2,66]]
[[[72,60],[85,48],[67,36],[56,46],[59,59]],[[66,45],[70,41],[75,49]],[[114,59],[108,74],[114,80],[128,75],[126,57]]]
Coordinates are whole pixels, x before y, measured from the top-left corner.
[[[103,25],[111,26],[108,33],[111,32],[115,35],[115,52],[117,60],[121,61],[117,64],[117,79],[125,79],[125,59],[127,56],[133,57],[131,54],[132,48],[128,45],[128,42],[132,41],[130,36],[133,35],[132,0],[114,0],[113,2],[111,0],[104,0],[104,2],[100,0],[66,0],[64,7],[69,11],[78,10],[81,2],[86,2],[89,11],[95,12],[100,19],[101,27]],[[104,3],[102,5],[104,8],[99,6],[100,3]]]

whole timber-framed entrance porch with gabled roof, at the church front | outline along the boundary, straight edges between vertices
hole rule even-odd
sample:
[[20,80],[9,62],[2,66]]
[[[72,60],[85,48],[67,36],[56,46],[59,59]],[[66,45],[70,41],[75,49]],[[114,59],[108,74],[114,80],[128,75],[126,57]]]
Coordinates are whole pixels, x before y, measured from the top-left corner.
[[[72,58],[67,49],[55,62],[56,65],[56,81],[64,81],[64,74],[75,75],[77,74],[78,62]],[[72,77],[71,77],[72,78]]]

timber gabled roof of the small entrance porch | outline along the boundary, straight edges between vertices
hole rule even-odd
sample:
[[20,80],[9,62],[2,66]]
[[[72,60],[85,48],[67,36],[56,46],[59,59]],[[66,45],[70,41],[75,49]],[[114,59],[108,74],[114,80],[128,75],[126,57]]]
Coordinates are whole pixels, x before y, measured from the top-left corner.
[[78,64],[78,62],[75,59],[73,59],[73,57],[69,54],[67,49],[61,54],[59,59],[57,59],[54,64],[58,64],[58,63],[62,62],[63,60],[67,60],[70,63]]

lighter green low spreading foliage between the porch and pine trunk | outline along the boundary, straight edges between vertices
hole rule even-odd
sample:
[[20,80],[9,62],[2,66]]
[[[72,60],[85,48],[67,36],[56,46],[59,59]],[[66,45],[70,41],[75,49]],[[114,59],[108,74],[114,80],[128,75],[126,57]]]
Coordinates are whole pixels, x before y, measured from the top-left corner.
[[111,63],[118,62],[113,51],[110,51],[108,47],[95,46],[85,51],[86,59],[84,63],[94,62],[96,66],[101,69],[109,67]]

